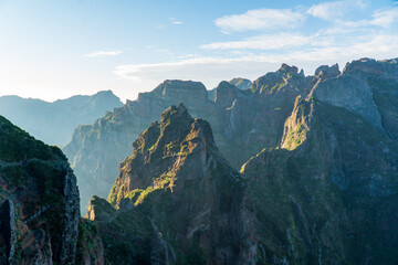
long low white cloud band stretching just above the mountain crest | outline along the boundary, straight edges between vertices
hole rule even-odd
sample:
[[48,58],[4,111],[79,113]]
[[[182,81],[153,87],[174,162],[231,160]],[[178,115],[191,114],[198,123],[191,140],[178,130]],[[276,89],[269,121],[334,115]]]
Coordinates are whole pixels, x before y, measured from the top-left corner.
[[283,53],[248,54],[241,57],[195,57],[157,64],[130,64],[117,66],[114,71],[122,78],[133,82],[161,82],[168,78],[199,80],[217,84],[234,76],[255,78],[275,71],[284,62],[313,73],[321,64],[339,63],[359,57],[387,59],[398,50],[398,34],[373,34],[352,38],[346,43],[313,46]]

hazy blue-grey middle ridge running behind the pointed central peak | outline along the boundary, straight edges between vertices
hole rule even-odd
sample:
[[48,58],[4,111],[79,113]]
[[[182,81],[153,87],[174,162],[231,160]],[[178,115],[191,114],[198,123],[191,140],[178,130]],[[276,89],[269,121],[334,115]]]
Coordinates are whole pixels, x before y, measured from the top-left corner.
[[118,163],[133,151],[133,141],[170,105],[184,103],[193,117],[208,120],[221,152],[239,170],[264,147],[280,142],[295,97],[306,96],[321,78],[304,76],[284,64],[258,78],[251,89],[221,82],[212,102],[206,87],[191,81],[165,81],[154,91],[140,93],[137,100],[127,100],[94,125],[80,126],[63,148],[78,176],[82,205],[93,194],[107,195]]

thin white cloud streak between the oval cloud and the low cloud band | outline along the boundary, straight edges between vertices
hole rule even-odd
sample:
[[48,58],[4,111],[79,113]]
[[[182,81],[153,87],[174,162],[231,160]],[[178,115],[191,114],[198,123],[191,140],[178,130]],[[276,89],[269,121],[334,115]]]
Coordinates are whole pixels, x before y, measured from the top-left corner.
[[268,35],[256,35],[243,41],[214,42],[201,45],[201,49],[256,49],[256,50],[279,50],[294,46],[302,46],[310,43],[311,38],[298,33],[277,33]]

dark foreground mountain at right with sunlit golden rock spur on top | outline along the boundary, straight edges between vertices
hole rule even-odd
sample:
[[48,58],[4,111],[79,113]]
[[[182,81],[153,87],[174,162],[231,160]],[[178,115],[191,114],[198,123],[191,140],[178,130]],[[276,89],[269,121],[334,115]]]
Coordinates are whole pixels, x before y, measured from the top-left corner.
[[298,97],[281,148],[242,168],[260,264],[396,264],[397,148],[365,117]]

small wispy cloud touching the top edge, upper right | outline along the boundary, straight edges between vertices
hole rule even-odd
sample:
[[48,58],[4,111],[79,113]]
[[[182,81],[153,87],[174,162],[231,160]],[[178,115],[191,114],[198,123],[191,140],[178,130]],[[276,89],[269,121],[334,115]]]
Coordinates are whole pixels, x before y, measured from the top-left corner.
[[368,4],[364,0],[348,0],[322,2],[312,6],[307,13],[323,20],[335,21],[343,18],[349,10],[365,9]]

